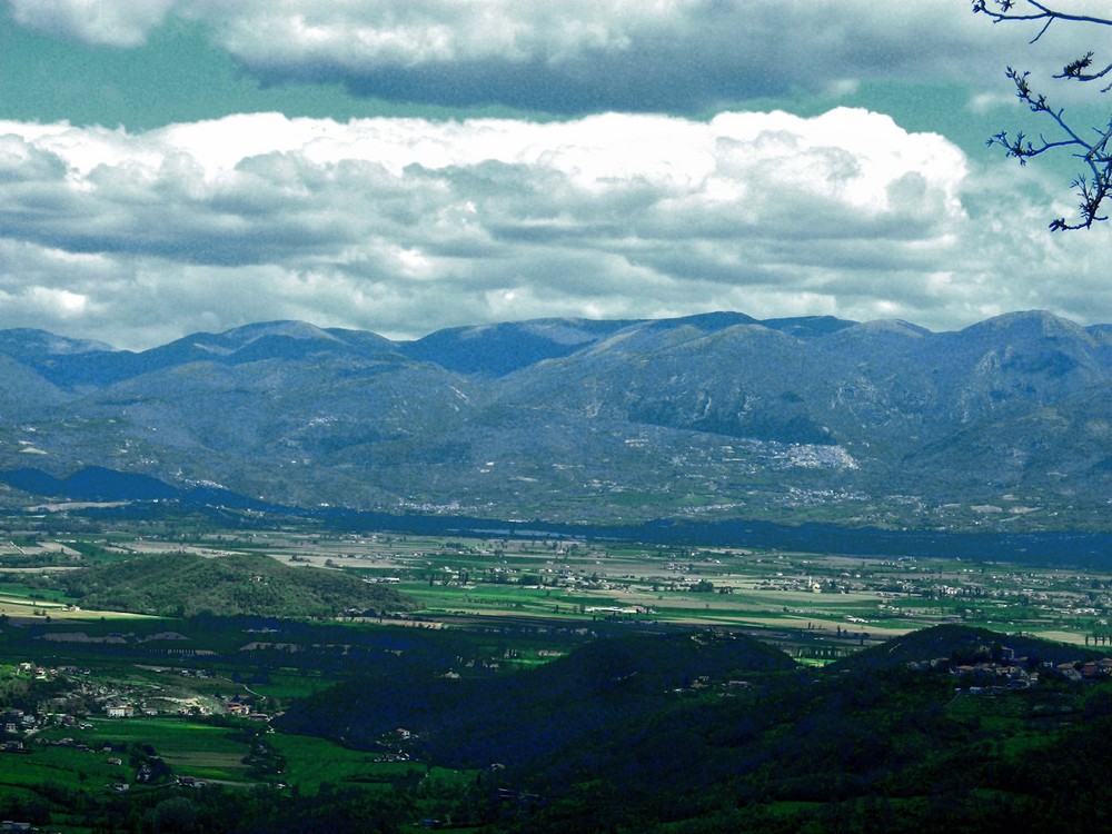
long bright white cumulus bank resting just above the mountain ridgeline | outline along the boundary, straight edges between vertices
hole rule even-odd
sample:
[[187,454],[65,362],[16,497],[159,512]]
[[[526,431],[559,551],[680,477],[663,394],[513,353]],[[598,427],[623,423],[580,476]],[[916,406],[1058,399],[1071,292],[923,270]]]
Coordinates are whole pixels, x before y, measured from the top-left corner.
[[272,318],[415,337],[712,309],[1112,315],[1091,281],[1046,280],[1102,275],[1103,248],[1030,242],[1043,209],[1014,171],[987,183],[1009,201],[979,196],[981,176],[942,137],[851,109],[0,122],[0,296],[9,326],[131,347]]

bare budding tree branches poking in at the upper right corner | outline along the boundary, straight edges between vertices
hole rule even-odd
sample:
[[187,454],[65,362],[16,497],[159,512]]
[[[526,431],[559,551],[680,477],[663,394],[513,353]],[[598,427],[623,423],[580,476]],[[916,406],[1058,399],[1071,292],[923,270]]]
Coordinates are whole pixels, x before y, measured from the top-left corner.
[[[1054,23],[1081,23],[1091,26],[1112,26],[1112,18],[1096,18],[1089,14],[1075,14],[1058,11],[1039,0],[973,0],[973,13],[985,14],[993,23],[1030,23],[1039,26],[1032,38],[1034,43]],[[1105,76],[1112,81],[1112,63],[1099,68],[1094,66],[1095,53],[1086,51],[1066,63],[1054,79],[1080,83],[1100,81]],[[1050,139],[1040,136],[1033,142],[1022,132],[1011,136],[1001,131],[989,139],[989,146],[1004,149],[1004,152],[1020,165],[1026,165],[1029,159],[1050,151],[1072,150],[1073,156],[1083,163],[1082,173],[1073,181],[1081,202],[1078,206],[1078,219],[1068,221],[1064,217],[1050,224],[1051,231],[1065,229],[1088,229],[1094,222],[1108,220],[1109,215],[1102,214],[1102,205],[1112,196],[1112,118],[1104,127],[1079,128],[1065,116],[1063,108],[1054,107],[1046,96],[1031,86],[1031,73],[1007,68],[1007,78],[1015,85],[1015,95],[1032,112],[1045,118],[1054,129]],[[1100,87],[1100,92],[1108,92],[1112,83]]]

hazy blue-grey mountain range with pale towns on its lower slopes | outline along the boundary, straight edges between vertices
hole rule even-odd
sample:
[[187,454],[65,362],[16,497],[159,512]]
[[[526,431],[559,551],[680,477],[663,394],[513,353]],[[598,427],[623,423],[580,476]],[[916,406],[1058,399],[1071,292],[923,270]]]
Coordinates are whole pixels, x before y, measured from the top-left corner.
[[[1112,328],[1046,312],[939,334],[543,319],[406,342],[279,321],[142,353],[0,330],[0,469],[56,493],[103,467],[388,512],[1112,527]],[[32,481],[8,480],[26,503]]]

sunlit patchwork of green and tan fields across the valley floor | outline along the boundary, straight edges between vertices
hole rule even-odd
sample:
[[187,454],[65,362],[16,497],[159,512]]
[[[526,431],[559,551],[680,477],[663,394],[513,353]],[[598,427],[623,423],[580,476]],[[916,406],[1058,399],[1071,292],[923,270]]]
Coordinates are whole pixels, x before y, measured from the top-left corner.
[[[76,600],[37,590],[31,572],[187,550],[212,558],[264,553],[292,566],[386,583],[418,602],[418,612],[403,622],[425,627],[483,617],[712,625],[803,635],[806,645],[817,642],[835,654],[940,622],[1078,644],[1104,645],[1112,636],[1112,572],[544,538],[296,529],[145,534],[121,528],[72,538],[26,536],[24,556],[54,554],[58,564],[6,569],[0,614],[120,616],[76,610]],[[6,558],[0,553],[0,564]]]

